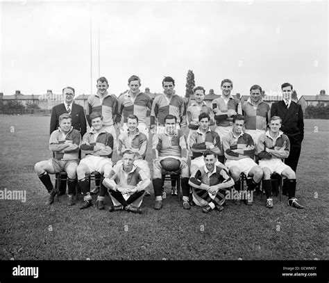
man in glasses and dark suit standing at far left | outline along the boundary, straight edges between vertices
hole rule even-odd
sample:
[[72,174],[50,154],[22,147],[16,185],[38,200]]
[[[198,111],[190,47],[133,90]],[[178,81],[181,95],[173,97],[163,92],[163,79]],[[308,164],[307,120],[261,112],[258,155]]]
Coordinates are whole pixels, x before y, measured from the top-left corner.
[[[80,131],[81,138],[87,131],[87,122],[85,120],[85,111],[83,106],[74,103],[74,88],[68,86],[63,88],[62,95],[64,96],[64,103],[53,106],[51,110],[50,119],[50,134],[58,129],[59,117],[63,113],[69,113],[71,115],[72,127]],[[80,158],[79,154],[79,158]],[[66,191],[66,181],[62,181],[60,184],[60,195],[64,195]]]

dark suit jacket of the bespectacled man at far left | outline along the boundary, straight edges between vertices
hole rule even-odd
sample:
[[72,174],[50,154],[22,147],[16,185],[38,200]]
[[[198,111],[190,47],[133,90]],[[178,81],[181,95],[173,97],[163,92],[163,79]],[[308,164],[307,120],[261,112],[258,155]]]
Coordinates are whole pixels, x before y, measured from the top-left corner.
[[[67,113],[64,103],[53,106],[50,119],[50,134],[58,129],[60,125],[59,118],[63,113]],[[85,120],[85,111],[83,111],[83,106],[73,103],[71,108],[71,117],[72,127],[80,131],[81,136],[83,136],[87,131],[87,122]]]

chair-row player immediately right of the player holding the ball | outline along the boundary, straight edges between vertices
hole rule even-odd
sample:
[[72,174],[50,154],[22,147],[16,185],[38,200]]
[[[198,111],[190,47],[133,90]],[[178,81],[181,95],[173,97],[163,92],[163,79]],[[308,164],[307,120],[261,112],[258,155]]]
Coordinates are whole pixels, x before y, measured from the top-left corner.
[[207,150],[214,152],[216,155],[216,165],[219,165],[217,156],[221,153],[221,139],[216,131],[210,129],[210,116],[207,113],[201,113],[199,115],[199,124],[199,129],[192,131],[189,137],[189,145],[192,151],[191,167],[189,168],[191,176],[196,170],[205,165],[203,152]]

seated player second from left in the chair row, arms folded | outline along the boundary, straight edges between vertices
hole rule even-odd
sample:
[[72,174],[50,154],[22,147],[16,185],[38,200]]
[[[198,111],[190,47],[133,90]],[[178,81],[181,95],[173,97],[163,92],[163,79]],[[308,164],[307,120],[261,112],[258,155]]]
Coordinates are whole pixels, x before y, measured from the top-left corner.
[[[83,204],[80,209],[87,209],[92,206],[92,196],[90,195],[89,181],[86,176],[92,172],[99,172],[104,177],[108,177],[112,170],[113,136],[103,127],[101,113],[91,113],[90,122],[92,128],[85,133],[81,144],[81,151],[85,154],[85,158],[80,161],[78,168],[76,168],[78,184],[83,192]],[[105,209],[105,195],[106,188],[101,186],[96,202],[99,210]]]

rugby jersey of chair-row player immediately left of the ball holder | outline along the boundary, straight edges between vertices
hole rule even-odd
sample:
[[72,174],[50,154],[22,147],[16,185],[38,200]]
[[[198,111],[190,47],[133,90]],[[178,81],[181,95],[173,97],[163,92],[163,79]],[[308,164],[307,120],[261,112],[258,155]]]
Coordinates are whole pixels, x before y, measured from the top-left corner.
[[135,136],[130,136],[129,131],[125,131],[119,135],[117,148],[119,156],[122,156],[126,149],[130,149],[133,152],[138,152],[140,158],[145,159],[148,139],[138,129],[136,131],[137,134]]

